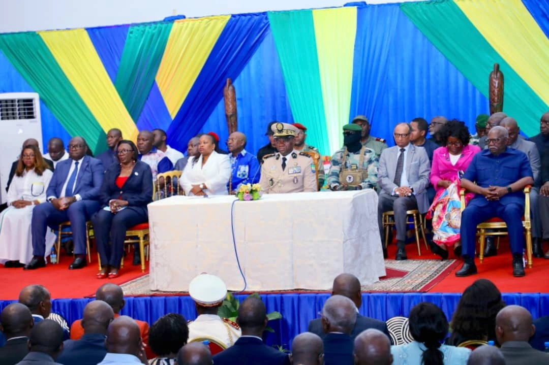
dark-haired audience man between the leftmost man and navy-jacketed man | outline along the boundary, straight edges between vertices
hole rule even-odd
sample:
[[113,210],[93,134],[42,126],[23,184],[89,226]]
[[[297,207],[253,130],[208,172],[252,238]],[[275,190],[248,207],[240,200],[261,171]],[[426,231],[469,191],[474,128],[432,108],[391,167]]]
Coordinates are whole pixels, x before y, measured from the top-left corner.
[[29,353],[18,365],[57,364],[55,358],[63,350],[63,329],[57,322],[43,320],[31,330]]

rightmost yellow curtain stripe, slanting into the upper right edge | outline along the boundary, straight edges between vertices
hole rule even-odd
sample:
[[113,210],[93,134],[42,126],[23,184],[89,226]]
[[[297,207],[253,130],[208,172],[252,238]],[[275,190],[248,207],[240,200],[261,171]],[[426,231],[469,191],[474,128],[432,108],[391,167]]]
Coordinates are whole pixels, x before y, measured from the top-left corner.
[[520,0],[455,3],[509,66],[549,104],[549,39],[524,4]]

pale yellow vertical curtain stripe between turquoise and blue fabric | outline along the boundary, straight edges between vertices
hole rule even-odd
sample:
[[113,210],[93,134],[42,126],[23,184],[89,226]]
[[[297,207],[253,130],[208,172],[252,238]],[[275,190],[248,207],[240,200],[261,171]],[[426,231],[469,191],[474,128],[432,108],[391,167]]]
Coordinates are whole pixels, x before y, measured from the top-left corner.
[[341,127],[349,121],[356,7],[313,10],[318,69],[330,151],[341,148]]

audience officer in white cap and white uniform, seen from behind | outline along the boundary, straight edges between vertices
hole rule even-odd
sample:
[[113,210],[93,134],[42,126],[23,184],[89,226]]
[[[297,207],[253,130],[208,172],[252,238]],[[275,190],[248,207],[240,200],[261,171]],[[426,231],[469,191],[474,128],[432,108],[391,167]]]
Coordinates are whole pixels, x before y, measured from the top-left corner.
[[188,323],[189,342],[209,339],[226,347],[232,346],[242,335],[238,324],[221,318],[217,310],[227,296],[227,286],[217,276],[202,273],[189,283],[189,295],[193,298],[198,317]]

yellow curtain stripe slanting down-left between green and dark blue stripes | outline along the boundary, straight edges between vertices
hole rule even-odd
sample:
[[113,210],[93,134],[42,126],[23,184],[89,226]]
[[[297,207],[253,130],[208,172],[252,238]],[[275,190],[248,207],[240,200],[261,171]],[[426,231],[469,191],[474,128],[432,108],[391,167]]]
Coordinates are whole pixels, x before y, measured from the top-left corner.
[[231,15],[173,22],[156,83],[175,117]]

